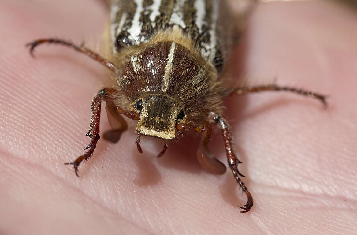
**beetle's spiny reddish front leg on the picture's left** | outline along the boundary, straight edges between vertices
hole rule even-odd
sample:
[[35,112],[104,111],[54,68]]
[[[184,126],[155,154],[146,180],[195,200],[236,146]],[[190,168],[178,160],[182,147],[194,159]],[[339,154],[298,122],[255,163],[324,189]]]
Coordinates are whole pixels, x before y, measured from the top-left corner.
[[75,173],[78,177],[79,177],[78,175],[79,164],[81,164],[83,160],[86,161],[92,156],[95,147],[97,146],[97,141],[100,139],[99,121],[100,121],[101,101],[103,97],[105,99],[109,99],[110,92],[112,92],[112,90],[109,88],[102,89],[97,94],[95,94],[92,100],[90,127],[89,127],[89,132],[86,134],[86,136],[90,137],[90,144],[85,148],[89,150],[84,155],[78,157],[75,161],[65,163],[65,165],[67,164],[73,165]]

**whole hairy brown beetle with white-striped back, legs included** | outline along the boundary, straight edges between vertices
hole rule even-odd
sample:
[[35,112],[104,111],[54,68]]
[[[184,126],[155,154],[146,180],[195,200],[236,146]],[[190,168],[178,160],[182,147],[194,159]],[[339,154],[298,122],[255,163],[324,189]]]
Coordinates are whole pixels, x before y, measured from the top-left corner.
[[[78,166],[93,154],[99,140],[101,101],[112,131],[106,140],[116,142],[127,124],[120,114],[139,120],[136,126],[137,149],[140,136],[153,136],[165,141],[175,139],[178,131],[201,133],[197,157],[204,169],[223,174],[226,166],[208,150],[212,125],[222,130],[228,166],[247,195],[240,206],[247,212],[253,198],[240,177],[241,163],[236,156],[230,126],[223,118],[223,98],[258,91],[291,91],[315,97],[326,104],[325,96],[315,92],[280,87],[275,84],[227,88],[221,68],[237,38],[228,7],[222,0],[112,0],[110,20],[105,33],[104,55],[83,45],[55,38],[34,40],[27,44],[30,53],[42,43],[62,44],[99,61],[112,71],[112,79],[95,94],[91,106],[91,122],[86,136],[91,139],[88,151],[75,161]],[[233,37],[235,35],[235,37]]]

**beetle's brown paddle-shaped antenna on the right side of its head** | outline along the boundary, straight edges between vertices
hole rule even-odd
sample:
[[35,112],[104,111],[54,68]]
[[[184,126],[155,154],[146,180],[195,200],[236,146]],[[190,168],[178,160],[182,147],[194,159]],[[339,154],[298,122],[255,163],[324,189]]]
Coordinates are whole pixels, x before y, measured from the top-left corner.
[[196,131],[201,133],[200,146],[197,150],[197,159],[203,169],[214,175],[222,175],[226,172],[227,167],[221,161],[216,159],[208,150],[208,142],[211,139],[212,125],[208,122],[202,126],[189,127],[186,124],[180,123],[176,125],[176,129],[180,131]]

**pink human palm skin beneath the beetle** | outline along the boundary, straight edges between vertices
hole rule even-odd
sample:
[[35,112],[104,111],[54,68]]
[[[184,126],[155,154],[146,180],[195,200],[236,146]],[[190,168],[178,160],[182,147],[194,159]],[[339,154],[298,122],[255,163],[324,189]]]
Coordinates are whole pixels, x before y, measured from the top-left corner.
[[[106,72],[63,46],[39,46],[32,59],[24,45],[58,36],[94,48],[107,10],[95,0],[3,0],[1,6],[0,234],[356,232],[357,15],[351,10],[298,1],[253,11],[235,67],[253,84],[275,78],[328,94],[329,106],[274,92],[227,99],[239,170],[254,198],[252,210],[240,214],[246,196],[229,170],[215,176],[202,169],[196,133],[184,133],[157,159],[162,144],[143,138],[140,154],[129,120],[121,140],[102,138],[76,177],[63,163],[89,143],[90,101]],[[109,128],[102,112],[101,135]],[[213,129],[210,149],[226,163],[221,133]]]

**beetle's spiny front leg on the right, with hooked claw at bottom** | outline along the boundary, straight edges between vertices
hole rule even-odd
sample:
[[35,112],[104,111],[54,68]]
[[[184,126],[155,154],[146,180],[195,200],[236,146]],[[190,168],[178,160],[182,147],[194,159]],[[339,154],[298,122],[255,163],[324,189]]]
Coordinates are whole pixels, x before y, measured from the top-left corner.
[[244,185],[244,183],[239,177],[239,176],[241,177],[245,177],[245,176],[238,171],[238,164],[242,162],[238,160],[236,156],[236,152],[234,150],[231,127],[228,125],[228,122],[224,118],[218,116],[215,113],[211,114],[211,119],[213,122],[218,123],[222,129],[223,141],[225,144],[227,160],[228,160],[228,166],[232,170],[233,176],[236,179],[237,183],[239,184],[239,188],[241,188],[242,191],[245,192],[247,195],[247,203],[244,206],[238,206],[239,208],[243,209],[243,211],[239,211],[239,212],[241,213],[248,212],[253,206],[253,197],[248,191],[248,188]]

